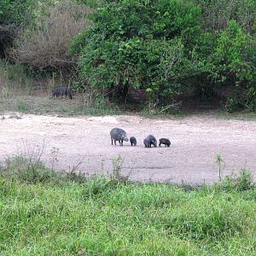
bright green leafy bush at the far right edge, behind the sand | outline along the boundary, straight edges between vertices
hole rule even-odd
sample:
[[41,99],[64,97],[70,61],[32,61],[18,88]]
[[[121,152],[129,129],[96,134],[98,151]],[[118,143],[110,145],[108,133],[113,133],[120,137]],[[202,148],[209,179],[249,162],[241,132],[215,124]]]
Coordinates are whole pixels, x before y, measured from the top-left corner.
[[[255,108],[255,49],[253,36],[235,20],[230,20],[228,27],[219,33],[212,54],[212,71],[220,85],[231,88],[225,104],[229,112]],[[249,98],[250,105],[247,104]]]

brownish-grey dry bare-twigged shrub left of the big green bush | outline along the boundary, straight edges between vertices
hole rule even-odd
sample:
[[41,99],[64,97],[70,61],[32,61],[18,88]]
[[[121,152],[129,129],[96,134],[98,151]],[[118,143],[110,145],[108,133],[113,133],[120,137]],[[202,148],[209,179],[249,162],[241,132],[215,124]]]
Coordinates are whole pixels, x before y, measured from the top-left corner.
[[73,37],[90,25],[86,6],[64,1],[49,10],[49,17],[30,32],[21,32],[16,41],[15,60],[38,70],[54,68],[61,73],[74,72],[74,56],[68,54]]

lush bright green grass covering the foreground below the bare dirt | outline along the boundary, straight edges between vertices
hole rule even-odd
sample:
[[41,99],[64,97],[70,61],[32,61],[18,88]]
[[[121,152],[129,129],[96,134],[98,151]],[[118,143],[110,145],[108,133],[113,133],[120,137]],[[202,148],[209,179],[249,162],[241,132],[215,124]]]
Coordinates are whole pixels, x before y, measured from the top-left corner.
[[188,190],[56,173],[20,158],[0,170],[1,255],[256,253],[249,179]]

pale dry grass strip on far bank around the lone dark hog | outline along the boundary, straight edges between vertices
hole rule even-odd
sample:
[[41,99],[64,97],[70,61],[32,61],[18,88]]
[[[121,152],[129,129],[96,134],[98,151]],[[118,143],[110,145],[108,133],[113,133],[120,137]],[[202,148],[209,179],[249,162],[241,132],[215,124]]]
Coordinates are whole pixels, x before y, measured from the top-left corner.
[[[66,98],[55,99],[51,90],[60,84],[53,74],[35,79],[25,68],[0,60],[0,112],[20,113],[62,113],[67,115],[119,114],[119,108],[112,106],[108,98],[95,90],[76,93],[73,101]],[[44,85],[42,85],[44,84]]]

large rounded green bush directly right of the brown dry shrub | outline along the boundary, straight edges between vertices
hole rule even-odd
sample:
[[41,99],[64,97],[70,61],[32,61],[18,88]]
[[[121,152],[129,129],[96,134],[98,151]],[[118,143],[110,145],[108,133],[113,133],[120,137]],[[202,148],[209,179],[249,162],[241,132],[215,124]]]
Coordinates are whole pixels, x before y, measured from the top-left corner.
[[101,89],[143,88],[152,96],[177,94],[192,66],[200,32],[200,9],[177,1],[119,1],[104,4],[89,30],[75,38],[82,77]]

